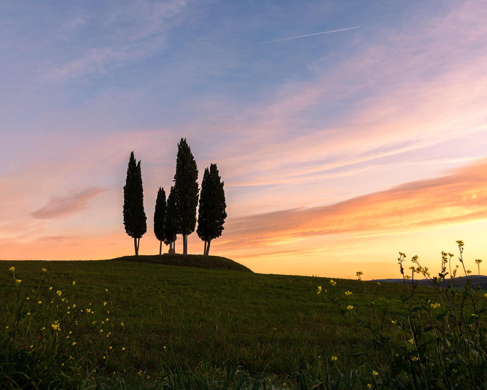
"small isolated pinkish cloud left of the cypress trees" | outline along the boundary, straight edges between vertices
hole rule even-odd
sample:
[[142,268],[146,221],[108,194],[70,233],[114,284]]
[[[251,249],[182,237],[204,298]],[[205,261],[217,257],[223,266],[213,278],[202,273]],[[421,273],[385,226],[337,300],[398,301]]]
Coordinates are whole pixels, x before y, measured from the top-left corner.
[[74,214],[86,209],[86,202],[103,191],[106,191],[106,189],[89,187],[83,191],[72,192],[66,196],[52,196],[47,205],[31,213],[31,215],[36,219],[50,219]]

